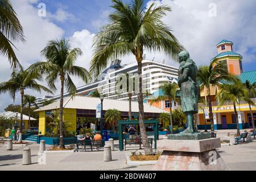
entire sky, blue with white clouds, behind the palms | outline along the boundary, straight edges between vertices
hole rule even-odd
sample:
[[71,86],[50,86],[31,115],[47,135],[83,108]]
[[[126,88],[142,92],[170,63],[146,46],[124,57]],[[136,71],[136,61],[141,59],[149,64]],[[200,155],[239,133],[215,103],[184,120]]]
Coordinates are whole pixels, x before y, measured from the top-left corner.
[[[26,36],[25,44],[15,44],[15,50],[24,68],[43,61],[40,51],[51,39],[68,38],[73,47],[82,49],[83,55],[76,64],[89,69],[92,57],[92,39],[99,28],[108,23],[112,11],[110,0],[10,0],[13,3]],[[131,1],[131,0],[126,0]],[[243,56],[243,71],[256,69],[256,1],[244,0],[148,0],[156,5],[168,5],[172,11],[163,22],[172,30],[181,44],[189,51],[197,65],[207,65],[217,55],[216,44],[223,39],[234,43],[234,52]],[[46,17],[38,15],[38,5],[46,5]],[[166,60],[166,64],[178,66],[170,57],[160,52],[148,52],[146,59]],[[135,61],[133,56],[120,57],[122,64]],[[1,57],[0,82],[10,78],[11,69],[6,57]],[[85,83],[74,78],[76,86]],[[46,82],[42,82],[46,85]],[[47,86],[47,85],[46,85]],[[59,88],[59,82],[56,82]],[[26,94],[42,97],[44,93],[26,90]],[[59,90],[55,93],[59,94]],[[15,104],[19,104],[17,93]],[[8,94],[0,94],[0,111],[13,101]]]

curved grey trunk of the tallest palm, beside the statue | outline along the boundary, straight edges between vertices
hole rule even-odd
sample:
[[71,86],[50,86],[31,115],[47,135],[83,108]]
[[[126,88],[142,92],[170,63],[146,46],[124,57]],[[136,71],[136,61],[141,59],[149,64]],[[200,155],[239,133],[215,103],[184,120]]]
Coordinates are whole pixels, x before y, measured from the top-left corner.
[[[141,56],[142,57],[142,56]],[[139,93],[138,93],[138,104],[139,104],[139,128],[141,130],[142,144],[146,155],[152,154],[153,150],[147,139],[146,127],[144,125],[144,105],[143,105],[143,94],[142,94],[142,58],[137,59],[138,62],[138,75],[139,75]]]

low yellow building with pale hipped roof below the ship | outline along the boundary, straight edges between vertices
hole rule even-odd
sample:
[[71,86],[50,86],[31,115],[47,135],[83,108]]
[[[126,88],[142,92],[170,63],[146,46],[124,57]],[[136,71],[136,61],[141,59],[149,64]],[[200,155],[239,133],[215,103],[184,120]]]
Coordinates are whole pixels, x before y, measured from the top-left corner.
[[[68,131],[76,132],[77,123],[81,118],[94,118],[96,126],[100,128],[98,119],[96,118],[97,105],[101,104],[100,98],[96,97],[85,97],[85,96],[74,96],[64,98],[64,111],[63,121],[69,123],[71,127],[68,127]],[[47,106],[40,107],[35,110],[39,112],[39,132],[44,135],[49,130],[47,123],[47,115],[51,115],[53,110],[59,110],[60,101],[55,101]],[[121,117],[127,119],[129,115],[129,102],[119,100],[104,99],[103,101],[103,117],[105,111],[108,109],[118,109],[121,111]],[[131,102],[132,117],[138,118],[139,108],[137,102]],[[159,114],[164,110],[144,104],[144,117],[145,119],[156,119]]]

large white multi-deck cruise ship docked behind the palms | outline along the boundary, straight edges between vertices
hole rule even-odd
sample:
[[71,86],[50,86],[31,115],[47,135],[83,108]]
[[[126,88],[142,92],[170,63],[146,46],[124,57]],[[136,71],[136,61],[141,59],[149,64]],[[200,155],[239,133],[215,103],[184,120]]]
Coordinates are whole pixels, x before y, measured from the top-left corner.
[[[76,94],[79,96],[90,96],[93,91],[98,90],[101,94],[104,94],[105,98],[128,100],[128,92],[117,93],[117,90],[115,90],[117,85],[116,80],[121,73],[136,74],[137,70],[137,62],[122,65],[121,60],[113,60],[110,66],[106,68],[95,81],[77,88]],[[177,71],[178,68],[165,64],[164,60],[161,62],[143,60],[143,88],[146,88],[146,93],[154,93],[163,82],[176,82],[178,77]],[[64,97],[67,96],[69,96],[69,93],[64,94]],[[51,99],[59,100],[60,96],[55,96]],[[137,94],[135,92],[133,92],[132,100],[137,100]]]

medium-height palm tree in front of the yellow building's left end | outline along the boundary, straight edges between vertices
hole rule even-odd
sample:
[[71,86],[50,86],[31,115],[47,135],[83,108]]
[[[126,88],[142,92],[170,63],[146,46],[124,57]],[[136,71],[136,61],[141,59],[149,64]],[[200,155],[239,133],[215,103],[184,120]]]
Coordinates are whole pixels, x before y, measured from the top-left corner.
[[59,78],[60,88],[60,148],[65,148],[63,142],[63,94],[65,88],[70,94],[76,92],[76,85],[71,79],[71,75],[82,78],[85,82],[89,80],[89,73],[85,68],[75,66],[77,57],[82,55],[79,48],[71,49],[68,40],[50,40],[47,47],[41,52],[47,59],[46,62],[38,62],[31,65],[30,69],[41,72],[46,76],[48,86],[56,90],[55,81]]

